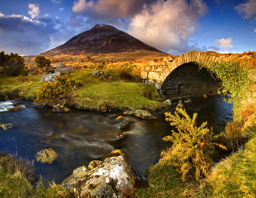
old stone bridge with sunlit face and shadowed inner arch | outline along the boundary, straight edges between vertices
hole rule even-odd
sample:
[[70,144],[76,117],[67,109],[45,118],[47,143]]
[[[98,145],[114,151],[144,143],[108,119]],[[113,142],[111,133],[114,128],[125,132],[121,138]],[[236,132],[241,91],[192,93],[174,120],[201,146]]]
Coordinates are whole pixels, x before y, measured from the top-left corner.
[[141,72],[141,81],[154,85],[160,95],[171,100],[217,95],[218,88],[222,86],[221,80],[214,79],[206,68],[199,69],[196,64],[208,66],[212,61],[221,62],[222,59],[195,50],[175,59],[165,57],[163,62],[150,61]]

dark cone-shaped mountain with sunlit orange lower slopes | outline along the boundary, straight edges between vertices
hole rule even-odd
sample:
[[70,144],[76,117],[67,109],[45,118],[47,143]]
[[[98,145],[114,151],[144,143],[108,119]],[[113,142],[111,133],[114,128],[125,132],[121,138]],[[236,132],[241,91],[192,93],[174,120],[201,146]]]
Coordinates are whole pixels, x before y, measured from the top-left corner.
[[46,57],[93,57],[115,59],[166,57],[168,54],[153,48],[131,35],[109,25],[96,25],[78,34],[63,45],[44,52]]

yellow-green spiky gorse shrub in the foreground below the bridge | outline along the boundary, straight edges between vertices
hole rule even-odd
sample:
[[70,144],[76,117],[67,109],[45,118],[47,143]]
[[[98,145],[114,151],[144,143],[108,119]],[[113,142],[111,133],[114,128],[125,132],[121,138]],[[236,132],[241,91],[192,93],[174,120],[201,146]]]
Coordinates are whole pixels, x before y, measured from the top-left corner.
[[161,152],[160,164],[176,167],[183,180],[188,175],[194,174],[196,179],[202,174],[208,175],[215,146],[226,149],[222,144],[213,142],[222,134],[214,136],[212,128],[206,128],[207,122],[197,127],[197,113],[191,119],[185,110],[177,108],[174,115],[166,112],[165,116],[178,132],[172,130],[171,136],[163,138],[164,141],[172,141],[173,145]]

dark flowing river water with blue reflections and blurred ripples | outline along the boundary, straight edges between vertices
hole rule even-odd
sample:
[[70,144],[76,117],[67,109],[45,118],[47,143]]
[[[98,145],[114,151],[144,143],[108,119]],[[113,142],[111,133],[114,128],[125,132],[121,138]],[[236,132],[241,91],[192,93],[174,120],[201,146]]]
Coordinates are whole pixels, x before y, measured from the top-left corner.
[[[185,104],[189,115],[197,112],[197,123],[208,122],[214,133],[224,131],[232,120],[232,106],[217,95],[193,99]],[[7,108],[25,105],[20,111]],[[0,128],[0,151],[16,153],[35,160],[36,171],[42,175],[44,186],[54,180],[61,183],[82,165],[102,158],[115,149],[120,149],[126,161],[137,175],[158,162],[161,151],[171,146],[162,138],[171,134],[172,126],[165,121],[164,112],[174,112],[172,105],[154,113],[157,119],[144,120],[119,111],[98,113],[71,109],[68,112],[52,112],[50,107],[33,106],[30,101],[0,101],[0,123],[12,124],[12,128]],[[122,116],[120,119],[116,119]],[[118,132],[126,138],[116,137]],[[35,155],[42,149],[52,148],[58,157],[51,163],[36,162]]]

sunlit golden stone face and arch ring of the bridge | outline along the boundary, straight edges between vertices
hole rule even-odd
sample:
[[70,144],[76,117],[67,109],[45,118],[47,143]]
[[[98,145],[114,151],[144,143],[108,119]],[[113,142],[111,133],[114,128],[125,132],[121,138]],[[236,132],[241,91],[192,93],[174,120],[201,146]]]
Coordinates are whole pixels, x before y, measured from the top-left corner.
[[159,89],[159,93],[164,95],[163,83],[169,74],[180,65],[187,63],[203,63],[209,66],[212,61],[220,62],[222,59],[212,56],[206,52],[189,51],[181,56],[172,59],[165,57],[163,62],[149,61],[148,65],[141,71],[141,81],[145,84],[154,85]]

